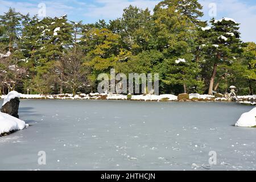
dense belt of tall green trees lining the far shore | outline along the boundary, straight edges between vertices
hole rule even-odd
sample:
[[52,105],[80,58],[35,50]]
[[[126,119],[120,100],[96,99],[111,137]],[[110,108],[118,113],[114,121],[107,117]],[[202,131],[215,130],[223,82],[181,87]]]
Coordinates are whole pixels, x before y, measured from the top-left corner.
[[232,18],[201,20],[197,0],[164,0],[150,12],[128,6],[107,22],[0,15],[0,94],[97,92],[100,73],[159,73],[164,93],[255,94],[255,43]]

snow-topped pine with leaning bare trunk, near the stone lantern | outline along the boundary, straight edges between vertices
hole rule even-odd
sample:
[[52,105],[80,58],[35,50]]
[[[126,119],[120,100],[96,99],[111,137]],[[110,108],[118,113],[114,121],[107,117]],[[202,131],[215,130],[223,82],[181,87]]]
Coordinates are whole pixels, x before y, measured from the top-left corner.
[[208,94],[213,94],[214,80],[218,65],[230,64],[234,57],[242,52],[239,27],[233,19],[222,18],[210,20],[211,27],[201,28],[201,36],[205,43],[205,60],[212,67]]

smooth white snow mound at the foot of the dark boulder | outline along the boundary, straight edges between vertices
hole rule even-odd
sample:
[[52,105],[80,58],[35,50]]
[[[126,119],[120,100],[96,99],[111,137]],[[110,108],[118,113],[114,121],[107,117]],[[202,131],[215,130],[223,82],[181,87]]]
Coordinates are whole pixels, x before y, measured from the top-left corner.
[[0,135],[9,133],[10,131],[22,130],[26,126],[24,121],[0,112]]

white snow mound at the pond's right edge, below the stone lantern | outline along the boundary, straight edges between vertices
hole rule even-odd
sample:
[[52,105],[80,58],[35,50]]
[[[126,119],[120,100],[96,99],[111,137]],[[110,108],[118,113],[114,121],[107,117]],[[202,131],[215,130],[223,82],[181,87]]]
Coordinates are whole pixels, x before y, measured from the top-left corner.
[[243,113],[236,122],[236,126],[253,127],[256,126],[256,107],[247,113]]

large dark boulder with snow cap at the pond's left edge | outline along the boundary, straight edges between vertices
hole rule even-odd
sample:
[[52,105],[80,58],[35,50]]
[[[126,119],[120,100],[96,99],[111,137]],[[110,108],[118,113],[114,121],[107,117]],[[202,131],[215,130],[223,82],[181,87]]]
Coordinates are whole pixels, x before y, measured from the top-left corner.
[[18,110],[19,110],[19,98],[18,97],[12,98],[9,102],[6,102],[6,104],[3,105],[1,108],[2,113],[12,115],[15,118],[19,118]]

